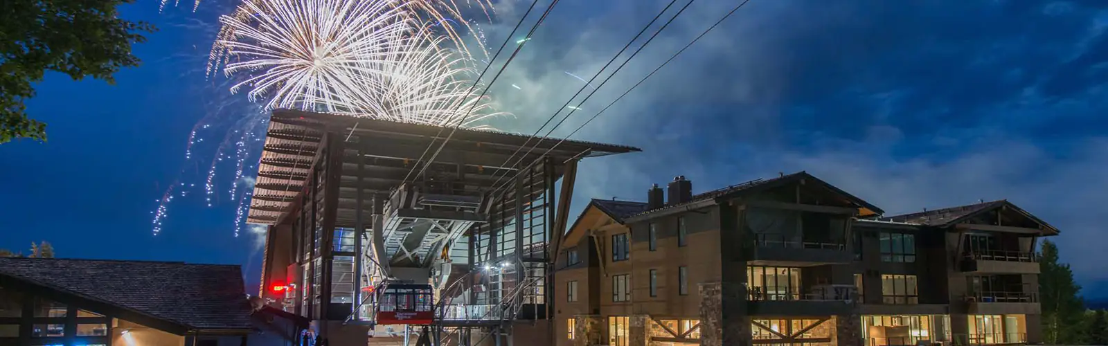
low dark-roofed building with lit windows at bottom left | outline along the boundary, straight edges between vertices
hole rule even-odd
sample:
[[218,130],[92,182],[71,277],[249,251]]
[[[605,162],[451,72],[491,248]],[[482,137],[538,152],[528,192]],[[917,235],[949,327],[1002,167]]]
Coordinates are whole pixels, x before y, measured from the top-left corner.
[[0,258],[4,346],[291,346],[307,327],[252,304],[237,265]]

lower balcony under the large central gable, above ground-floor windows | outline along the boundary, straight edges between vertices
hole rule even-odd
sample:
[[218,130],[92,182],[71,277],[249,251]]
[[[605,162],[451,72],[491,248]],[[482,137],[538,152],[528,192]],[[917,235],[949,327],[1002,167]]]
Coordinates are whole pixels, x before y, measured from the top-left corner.
[[796,291],[767,291],[750,287],[747,306],[750,315],[825,316],[852,312],[856,305],[858,288],[853,285],[820,285],[808,294]]

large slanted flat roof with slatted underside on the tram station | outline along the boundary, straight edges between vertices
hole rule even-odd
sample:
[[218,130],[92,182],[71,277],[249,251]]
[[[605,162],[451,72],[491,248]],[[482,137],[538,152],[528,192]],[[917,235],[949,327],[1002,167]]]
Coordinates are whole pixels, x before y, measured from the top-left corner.
[[[375,157],[387,159],[375,160],[375,164],[389,160],[402,162],[403,165],[400,167],[384,166],[380,163],[381,166],[378,167],[380,172],[375,173],[377,175],[373,179],[380,182],[379,186],[382,190],[402,183],[407,177],[403,173],[407,171],[401,172],[401,176],[398,177],[396,176],[398,170],[416,164],[421,157],[425,161],[443,143],[448,145],[437,156],[437,163],[465,165],[466,169],[474,170],[473,175],[489,176],[519,170],[530,165],[538,156],[547,156],[556,163],[562,163],[572,159],[642,151],[627,145],[554,138],[535,139],[500,131],[275,110],[266,131],[247,216],[248,223],[275,224],[280,215],[288,211],[297,194],[304,190],[310,170],[328,138],[332,139],[331,141],[341,141],[346,146],[359,147],[359,151],[370,151]],[[511,159],[512,163],[503,159]],[[386,169],[390,171],[386,172]],[[466,173],[466,176],[471,174]]]

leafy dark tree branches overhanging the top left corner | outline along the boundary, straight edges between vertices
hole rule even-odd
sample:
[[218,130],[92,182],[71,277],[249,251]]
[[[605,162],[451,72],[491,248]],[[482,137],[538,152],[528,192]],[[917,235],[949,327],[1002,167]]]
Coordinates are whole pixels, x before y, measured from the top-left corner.
[[47,125],[29,119],[23,102],[47,71],[114,83],[120,68],[138,65],[131,44],[145,42],[140,33],[155,29],[117,18],[116,7],[133,1],[0,1],[0,143],[45,141]]

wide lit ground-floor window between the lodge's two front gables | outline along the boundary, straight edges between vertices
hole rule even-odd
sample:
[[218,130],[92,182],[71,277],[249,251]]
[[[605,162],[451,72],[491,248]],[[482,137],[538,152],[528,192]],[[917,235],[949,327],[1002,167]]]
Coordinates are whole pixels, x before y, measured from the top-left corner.
[[916,345],[922,340],[950,342],[946,315],[865,315],[862,330],[866,346]]

